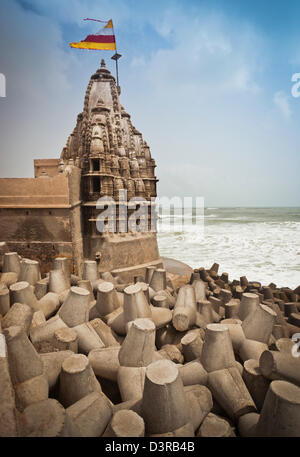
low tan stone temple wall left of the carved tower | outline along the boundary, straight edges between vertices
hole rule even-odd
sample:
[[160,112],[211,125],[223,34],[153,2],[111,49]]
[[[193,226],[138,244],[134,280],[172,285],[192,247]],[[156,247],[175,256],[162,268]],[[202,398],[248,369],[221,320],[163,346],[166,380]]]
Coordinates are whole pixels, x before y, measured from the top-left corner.
[[81,271],[80,170],[52,178],[0,179],[0,238],[11,251],[41,261],[42,273],[56,257],[73,258]]

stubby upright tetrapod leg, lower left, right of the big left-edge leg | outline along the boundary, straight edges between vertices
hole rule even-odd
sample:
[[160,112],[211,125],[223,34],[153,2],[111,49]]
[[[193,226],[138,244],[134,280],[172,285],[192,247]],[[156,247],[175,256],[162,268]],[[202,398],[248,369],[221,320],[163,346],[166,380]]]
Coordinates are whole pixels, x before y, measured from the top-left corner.
[[61,368],[59,401],[63,406],[71,406],[92,392],[102,392],[85,355],[71,355],[63,361]]

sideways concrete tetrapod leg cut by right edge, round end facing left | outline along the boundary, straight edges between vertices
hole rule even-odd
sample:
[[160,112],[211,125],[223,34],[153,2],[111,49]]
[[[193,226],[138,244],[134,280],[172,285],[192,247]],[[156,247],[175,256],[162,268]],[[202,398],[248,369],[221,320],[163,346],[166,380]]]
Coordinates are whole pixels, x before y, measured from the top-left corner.
[[271,380],[285,380],[300,386],[300,358],[286,352],[264,351],[259,359],[262,374]]

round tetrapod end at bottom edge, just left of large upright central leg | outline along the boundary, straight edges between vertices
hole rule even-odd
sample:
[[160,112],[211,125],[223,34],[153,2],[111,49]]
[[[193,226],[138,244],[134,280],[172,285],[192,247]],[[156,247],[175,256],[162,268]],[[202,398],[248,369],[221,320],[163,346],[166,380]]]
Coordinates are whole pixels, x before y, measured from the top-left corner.
[[103,437],[132,438],[145,436],[145,423],[134,411],[122,409],[114,413]]

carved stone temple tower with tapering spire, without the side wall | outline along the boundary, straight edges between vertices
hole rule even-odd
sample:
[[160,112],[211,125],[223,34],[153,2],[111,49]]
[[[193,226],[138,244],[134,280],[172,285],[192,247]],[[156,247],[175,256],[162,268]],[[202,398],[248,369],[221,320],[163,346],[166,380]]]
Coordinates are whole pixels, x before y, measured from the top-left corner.
[[[83,112],[62,151],[60,171],[64,173],[73,165],[81,169],[83,257],[100,258],[100,272],[110,270],[129,278],[148,265],[161,265],[153,231],[157,179],[149,146],[121,106],[119,93],[102,60],[88,84]],[[108,218],[105,230],[99,231],[99,215],[107,209],[105,202],[109,205],[112,199],[116,218]],[[141,207],[140,228],[132,230],[128,218]]]

